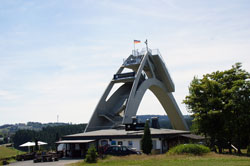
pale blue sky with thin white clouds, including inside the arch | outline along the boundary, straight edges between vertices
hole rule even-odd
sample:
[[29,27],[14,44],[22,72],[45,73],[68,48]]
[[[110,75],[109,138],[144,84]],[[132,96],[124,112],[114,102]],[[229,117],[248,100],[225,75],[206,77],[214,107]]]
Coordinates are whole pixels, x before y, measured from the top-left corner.
[[[134,39],[160,50],[187,114],[194,76],[250,71],[249,18],[248,0],[0,0],[0,125],[88,122]],[[138,114],[165,113],[147,92]]]

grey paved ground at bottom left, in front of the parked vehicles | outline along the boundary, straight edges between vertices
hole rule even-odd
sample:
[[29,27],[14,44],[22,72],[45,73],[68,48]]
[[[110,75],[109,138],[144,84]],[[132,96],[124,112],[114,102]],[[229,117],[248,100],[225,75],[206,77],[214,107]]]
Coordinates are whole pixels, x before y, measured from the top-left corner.
[[41,163],[33,163],[33,160],[28,161],[18,161],[15,163],[11,163],[11,166],[62,166],[71,163],[76,163],[82,159],[60,159],[59,161],[54,162],[41,162]]

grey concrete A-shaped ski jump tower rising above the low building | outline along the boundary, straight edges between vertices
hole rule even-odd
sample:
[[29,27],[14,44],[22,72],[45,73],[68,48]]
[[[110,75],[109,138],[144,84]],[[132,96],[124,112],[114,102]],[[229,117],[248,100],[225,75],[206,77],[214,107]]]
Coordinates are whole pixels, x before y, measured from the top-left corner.
[[[150,89],[166,111],[174,129],[188,130],[172,95],[174,83],[158,50],[134,51],[119,68],[101,97],[86,132],[131,124],[147,89]],[[132,72],[122,73],[127,68]],[[123,83],[113,94],[116,83]],[[108,96],[110,96],[108,98]]]

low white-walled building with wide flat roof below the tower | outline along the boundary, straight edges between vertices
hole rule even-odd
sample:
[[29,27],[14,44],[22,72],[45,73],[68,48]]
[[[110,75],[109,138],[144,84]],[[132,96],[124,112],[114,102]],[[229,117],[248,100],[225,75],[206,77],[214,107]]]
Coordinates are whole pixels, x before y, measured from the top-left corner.
[[[178,143],[188,143],[190,141],[199,141],[203,139],[203,137],[190,134],[189,131],[155,128],[151,128],[150,130],[154,153],[164,153]],[[66,156],[84,157],[90,144],[95,144],[96,147],[106,145],[124,145],[137,151],[141,151],[140,140],[142,136],[143,130],[126,131],[124,129],[105,129],[67,135],[57,143],[66,145]]]

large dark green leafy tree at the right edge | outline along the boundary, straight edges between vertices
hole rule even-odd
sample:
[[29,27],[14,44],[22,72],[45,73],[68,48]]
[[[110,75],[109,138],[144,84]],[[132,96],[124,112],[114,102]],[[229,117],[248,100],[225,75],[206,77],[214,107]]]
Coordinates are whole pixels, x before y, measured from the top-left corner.
[[211,146],[250,143],[250,74],[236,63],[231,69],[194,77],[183,101],[193,113],[193,129],[210,138]]

